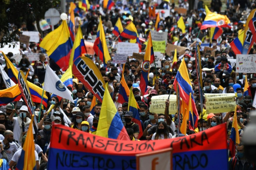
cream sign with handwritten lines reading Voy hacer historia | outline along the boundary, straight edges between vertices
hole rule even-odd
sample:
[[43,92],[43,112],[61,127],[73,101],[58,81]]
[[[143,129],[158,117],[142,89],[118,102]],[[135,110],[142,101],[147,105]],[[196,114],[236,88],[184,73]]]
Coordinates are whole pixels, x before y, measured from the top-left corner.
[[206,112],[207,113],[223,113],[235,110],[235,94],[209,94],[205,93]]

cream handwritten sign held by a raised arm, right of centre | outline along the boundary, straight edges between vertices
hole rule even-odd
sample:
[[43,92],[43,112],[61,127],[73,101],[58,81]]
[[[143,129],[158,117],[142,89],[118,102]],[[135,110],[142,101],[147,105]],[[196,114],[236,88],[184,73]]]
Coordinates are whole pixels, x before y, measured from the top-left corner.
[[[151,97],[150,112],[152,113],[165,113],[165,101],[168,99],[168,94]],[[177,97],[171,94],[169,98],[169,114],[175,114],[177,112]]]

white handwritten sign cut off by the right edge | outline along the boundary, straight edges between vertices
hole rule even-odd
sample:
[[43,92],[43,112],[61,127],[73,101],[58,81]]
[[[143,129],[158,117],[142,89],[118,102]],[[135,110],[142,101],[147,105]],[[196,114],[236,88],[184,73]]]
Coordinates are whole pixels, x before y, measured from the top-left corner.
[[256,54],[237,54],[237,73],[256,73]]

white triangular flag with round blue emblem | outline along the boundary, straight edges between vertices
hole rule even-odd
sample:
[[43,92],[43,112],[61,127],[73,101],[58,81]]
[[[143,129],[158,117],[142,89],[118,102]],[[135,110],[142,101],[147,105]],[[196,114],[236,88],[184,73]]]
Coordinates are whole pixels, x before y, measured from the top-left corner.
[[45,85],[43,86],[43,89],[47,92],[63,97],[64,99],[68,99],[74,103],[74,100],[71,96],[71,91],[69,91],[67,87],[61,82],[59,77],[54,73],[49,65],[46,66]]

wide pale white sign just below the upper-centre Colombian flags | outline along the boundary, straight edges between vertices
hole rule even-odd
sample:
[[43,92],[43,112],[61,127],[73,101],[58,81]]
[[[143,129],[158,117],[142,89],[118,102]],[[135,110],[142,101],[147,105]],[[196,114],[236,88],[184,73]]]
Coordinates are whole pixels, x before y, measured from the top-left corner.
[[139,46],[136,43],[119,42],[117,44],[118,54],[128,54],[128,56],[133,56],[133,53],[139,53]]

